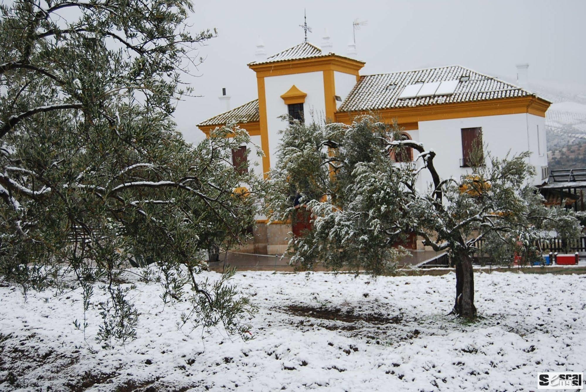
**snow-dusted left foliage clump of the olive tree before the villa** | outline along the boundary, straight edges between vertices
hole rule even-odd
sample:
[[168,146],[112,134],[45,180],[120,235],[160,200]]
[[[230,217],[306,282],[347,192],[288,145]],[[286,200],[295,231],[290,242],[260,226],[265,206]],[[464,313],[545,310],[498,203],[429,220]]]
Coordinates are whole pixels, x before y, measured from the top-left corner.
[[295,223],[305,219],[299,213],[305,209],[314,224],[289,241],[292,263],[384,274],[406,255],[395,246],[405,237],[397,207],[407,203],[401,180],[413,172],[389,159],[386,139],[393,129],[363,118],[350,126],[295,121],[282,132],[270,175],[278,192],[267,200],[272,219]]

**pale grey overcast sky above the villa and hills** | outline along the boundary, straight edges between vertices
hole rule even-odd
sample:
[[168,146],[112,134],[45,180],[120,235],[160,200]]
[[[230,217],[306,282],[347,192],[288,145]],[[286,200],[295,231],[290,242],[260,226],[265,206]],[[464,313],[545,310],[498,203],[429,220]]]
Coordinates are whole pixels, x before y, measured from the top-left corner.
[[461,64],[494,76],[514,76],[515,64],[529,63],[529,81],[586,86],[586,1],[195,1],[194,31],[217,28],[202,46],[197,77],[186,81],[202,97],[188,97],[175,113],[188,141],[203,138],[197,122],[220,113],[222,87],[231,108],[257,98],[254,61],[258,36],[267,54],[304,39],[304,8],[320,46],[328,29],[333,52],[346,54],[352,22],[367,21],[356,32],[360,74]]

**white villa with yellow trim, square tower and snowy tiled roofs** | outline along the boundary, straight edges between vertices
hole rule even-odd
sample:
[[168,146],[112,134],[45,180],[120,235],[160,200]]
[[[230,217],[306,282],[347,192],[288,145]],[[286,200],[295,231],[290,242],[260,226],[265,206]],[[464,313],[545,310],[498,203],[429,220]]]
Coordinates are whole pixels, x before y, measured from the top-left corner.
[[[550,102],[522,87],[458,65],[361,75],[364,62],[326,52],[331,48],[327,42],[322,48],[303,42],[270,57],[264,46],[257,47],[257,60],[248,67],[257,77],[258,98],[198,127],[209,134],[238,121],[263,149],[263,158],[250,154],[249,159],[257,160],[264,173],[275,163],[278,131],[286,126],[281,115],[350,124],[357,115],[374,113],[383,121],[396,120],[408,138],[434,149],[442,176],[459,177],[469,170],[476,140],[495,156],[531,151],[529,162],[537,171],[532,182],[547,181],[544,122]],[[290,224],[267,225],[264,217],[257,223],[254,246],[247,251],[283,253]],[[421,243],[414,241],[413,247],[421,248]]]

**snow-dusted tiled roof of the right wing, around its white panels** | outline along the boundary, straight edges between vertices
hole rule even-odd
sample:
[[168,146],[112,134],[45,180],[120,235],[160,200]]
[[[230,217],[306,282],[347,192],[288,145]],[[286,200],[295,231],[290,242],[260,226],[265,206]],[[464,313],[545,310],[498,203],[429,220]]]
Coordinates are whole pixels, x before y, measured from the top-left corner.
[[[458,83],[452,94],[399,98],[403,90],[411,84],[441,81]],[[416,107],[534,95],[506,81],[454,65],[362,76],[338,111]]]

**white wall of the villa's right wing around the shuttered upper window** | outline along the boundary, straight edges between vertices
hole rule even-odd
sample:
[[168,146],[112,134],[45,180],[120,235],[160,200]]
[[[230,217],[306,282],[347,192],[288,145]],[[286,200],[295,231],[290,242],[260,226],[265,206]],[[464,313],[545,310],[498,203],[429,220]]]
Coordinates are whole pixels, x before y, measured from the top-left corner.
[[[540,129],[542,155],[537,148],[537,125]],[[437,154],[434,166],[442,178],[459,176],[471,171],[460,167],[462,158],[462,128],[482,128],[482,142],[485,151],[499,158],[507,152],[519,154],[532,151],[529,163],[536,166],[534,184],[540,184],[541,166],[547,166],[544,118],[532,114],[491,115],[485,117],[455,118],[451,120],[420,121],[418,131],[408,131],[414,140],[423,143],[426,150],[433,149]],[[529,137],[528,137],[529,135]],[[427,172],[418,182],[418,188],[427,189],[431,176]]]

